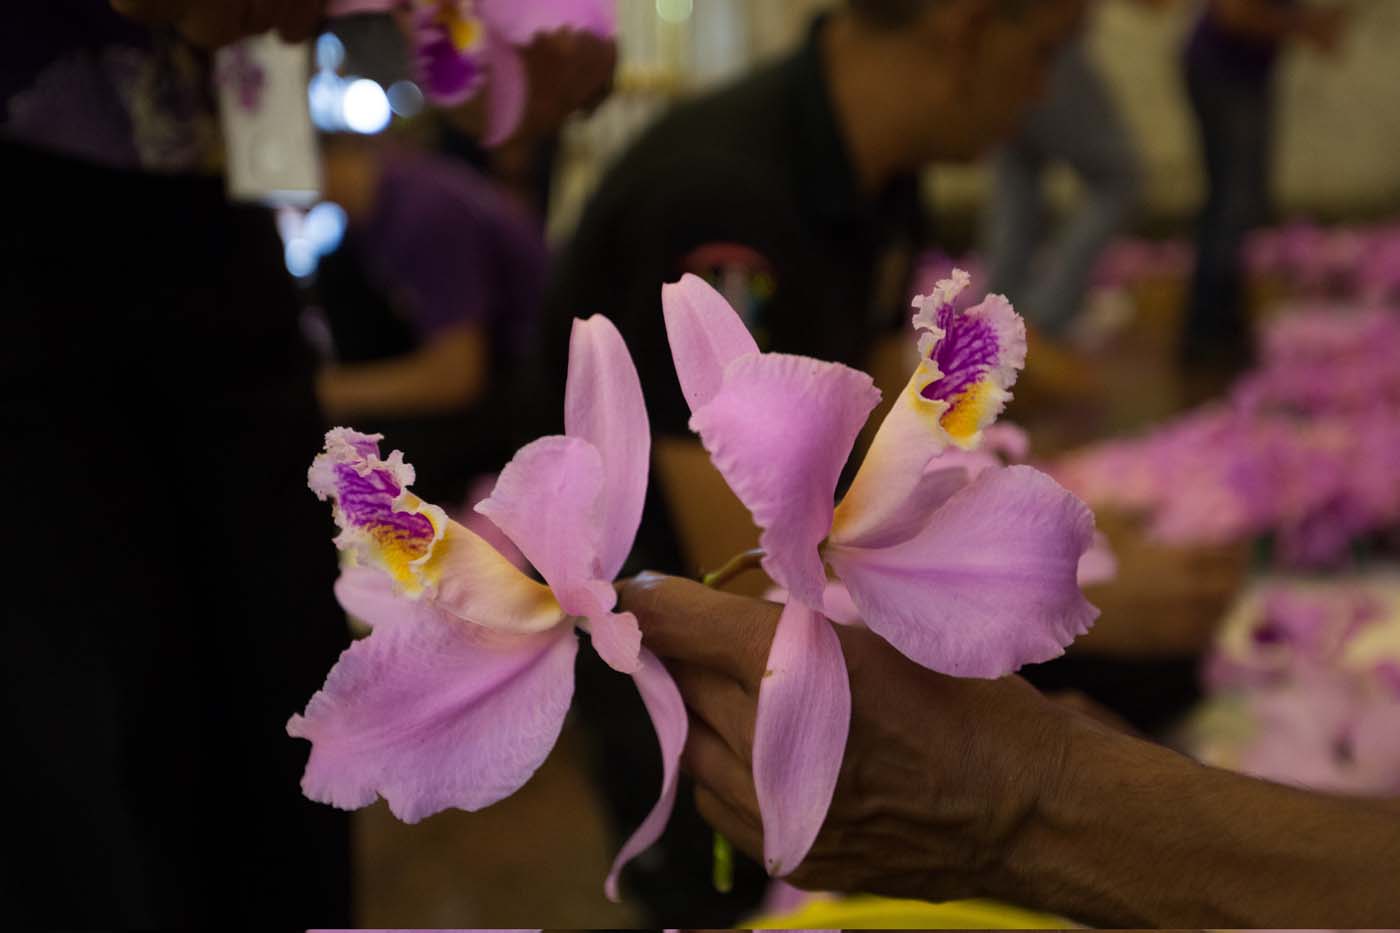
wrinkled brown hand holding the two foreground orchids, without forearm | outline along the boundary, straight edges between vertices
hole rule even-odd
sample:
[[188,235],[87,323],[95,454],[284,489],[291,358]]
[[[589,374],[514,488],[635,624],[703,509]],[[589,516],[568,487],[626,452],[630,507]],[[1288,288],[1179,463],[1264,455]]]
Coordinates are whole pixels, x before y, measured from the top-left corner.
[[[700,813],[760,857],[750,775],[759,685],[778,607],[671,577],[623,586],[644,643],[690,707],[683,766]],[[1002,859],[1056,780],[1067,710],[1019,678],[955,679],[927,671],[867,630],[839,630],[851,681],[851,731],[836,797],[799,888],[888,897],[984,897]]]

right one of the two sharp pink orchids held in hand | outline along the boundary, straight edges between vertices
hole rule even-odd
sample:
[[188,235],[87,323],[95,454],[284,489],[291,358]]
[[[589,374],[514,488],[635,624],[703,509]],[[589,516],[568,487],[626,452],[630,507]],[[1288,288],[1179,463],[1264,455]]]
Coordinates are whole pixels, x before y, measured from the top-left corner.
[[[829,618],[826,566],[861,622],[911,660],[994,678],[1044,661],[1092,625],[1075,584],[1093,516],[1029,466],[928,466],[973,448],[1025,361],[1025,325],[1005,298],[967,311],[966,275],[916,301],[920,364],[840,506],[836,485],[879,392],[834,363],[760,353],[701,279],[664,290],[690,427],[760,528],[763,569],[790,593],[769,654],[753,778],[764,863],[806,856],[830,806],[850,726],[850,685]],[[836,590],[840,593],[840,590]]]

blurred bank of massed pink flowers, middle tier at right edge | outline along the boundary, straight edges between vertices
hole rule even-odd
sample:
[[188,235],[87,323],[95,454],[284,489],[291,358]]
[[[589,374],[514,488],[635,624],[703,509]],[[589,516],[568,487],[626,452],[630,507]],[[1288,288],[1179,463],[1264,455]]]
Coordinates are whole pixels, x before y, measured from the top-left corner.
[[1142,513],[1168,544],[1271,538],[1284,566],[1344,562],[1400,524],[1400,317],[1299,312],[1224,403],[1056,468],[1088,502]]

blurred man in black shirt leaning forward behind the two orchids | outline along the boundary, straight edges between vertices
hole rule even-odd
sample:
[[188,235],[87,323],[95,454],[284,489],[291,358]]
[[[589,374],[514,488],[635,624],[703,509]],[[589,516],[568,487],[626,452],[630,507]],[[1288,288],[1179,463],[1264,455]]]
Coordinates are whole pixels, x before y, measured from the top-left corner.
[[[648,566],[714,569],[757,538],[687,429],[661,283],[697,273],[764,350],[868,367],[897,391],[924,238],[917,172],[1007,139],[1082,10],[1081,0],[847,0],[791,55],[661,118],[608,171],[549,286],[536,410],[556,416],[568,321],[608,314],[637,361],[655,436],[637,552]],[[659,780],[643,738],[651,730],[634,692],[601,667],[581,665],[580,709],[613,822],[634,825],[647,806],[636,786]],[[680,807],[624,887],[658,925],[724,927],[756,904],[764,876],[746,864],[720,898],[708,862],[708,832]]]

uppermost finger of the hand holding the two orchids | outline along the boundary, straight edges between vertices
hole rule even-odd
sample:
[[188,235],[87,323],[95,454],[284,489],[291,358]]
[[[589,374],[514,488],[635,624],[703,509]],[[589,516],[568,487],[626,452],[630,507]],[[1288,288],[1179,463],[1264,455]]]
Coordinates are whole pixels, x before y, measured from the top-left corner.
[[658,574],[623,583],[620,611],[637,616],[644,643],[661,657],[714,668],[753,689],[778,619],[771,602]]

